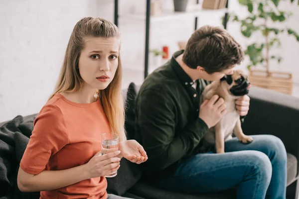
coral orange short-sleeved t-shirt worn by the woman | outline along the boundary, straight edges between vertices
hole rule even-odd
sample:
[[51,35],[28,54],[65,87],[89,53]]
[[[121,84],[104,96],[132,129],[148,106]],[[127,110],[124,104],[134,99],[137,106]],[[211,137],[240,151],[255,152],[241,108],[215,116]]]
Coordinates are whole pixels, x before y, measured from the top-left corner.
[[[37,175],[44,170],[64,170],[87,163],[101,151],[101,135],[111,132],[100,100],[75,103],[54,95],[40,110],[20,167]],[[52,191],[40,199],[106,199],[105,177],[84,180]]]

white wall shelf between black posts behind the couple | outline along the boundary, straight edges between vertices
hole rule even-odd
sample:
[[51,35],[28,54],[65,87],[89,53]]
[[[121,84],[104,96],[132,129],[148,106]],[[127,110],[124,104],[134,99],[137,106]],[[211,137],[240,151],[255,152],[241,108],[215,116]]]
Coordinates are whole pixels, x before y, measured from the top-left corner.
[[[215,13],[225,13],[228,12],[227,8],[222,9],[203,9],[201,7],[201,4],[199,5],[193,5],[190,6],[189,9],[186,10],[186,12],[174,12],[173,10],[163,10],[163,13],[161,15],[157,16],[150,16],[150,22],[156,22],[156,21],[163,21],[163,20],[172,20],[175,18],[181,18],[182,16],[189,16],[189,17],[196,17],[207,14],[215,14]],[[119,18],[121,20],[146,20],[146,14],[145,13],[134,13],[134,14],[124,14],[120,15]]]

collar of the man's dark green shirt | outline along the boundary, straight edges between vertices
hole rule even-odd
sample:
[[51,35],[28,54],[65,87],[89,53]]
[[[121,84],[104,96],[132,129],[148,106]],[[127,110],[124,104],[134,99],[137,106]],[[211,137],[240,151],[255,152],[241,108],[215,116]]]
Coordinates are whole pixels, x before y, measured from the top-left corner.
[[171,57],[171,66],[172,66],[172,69],[173,69],[175,75],[181,82],[181,84],[186,87],[191,87],[194,84],[194,81],[187,75],[187,73],[182,69],[182,67],[175,60],[175,58],[177,58],[183,52],[184,52],[184,50],[180,50],[180,51],[173,53],[173,55]]

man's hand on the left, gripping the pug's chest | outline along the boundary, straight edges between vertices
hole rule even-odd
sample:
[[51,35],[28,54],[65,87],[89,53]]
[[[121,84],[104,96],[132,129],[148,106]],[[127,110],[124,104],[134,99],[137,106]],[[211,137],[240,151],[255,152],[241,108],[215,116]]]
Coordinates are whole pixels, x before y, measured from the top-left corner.
[[215,95],[211,100],[205,100],[200,105],[199,118],[211,128],[226,114],[227,111],[225,108],[223,98],[219,99],[219,96]]

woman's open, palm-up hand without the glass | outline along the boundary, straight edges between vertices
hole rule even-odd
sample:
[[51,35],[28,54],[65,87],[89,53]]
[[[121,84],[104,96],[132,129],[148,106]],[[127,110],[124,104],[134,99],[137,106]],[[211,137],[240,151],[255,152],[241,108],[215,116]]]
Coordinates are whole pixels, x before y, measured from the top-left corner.
[[145,149],[136,140],[120,142],[119,150],[124,158],[136,164],[141,164],[148,160]]

